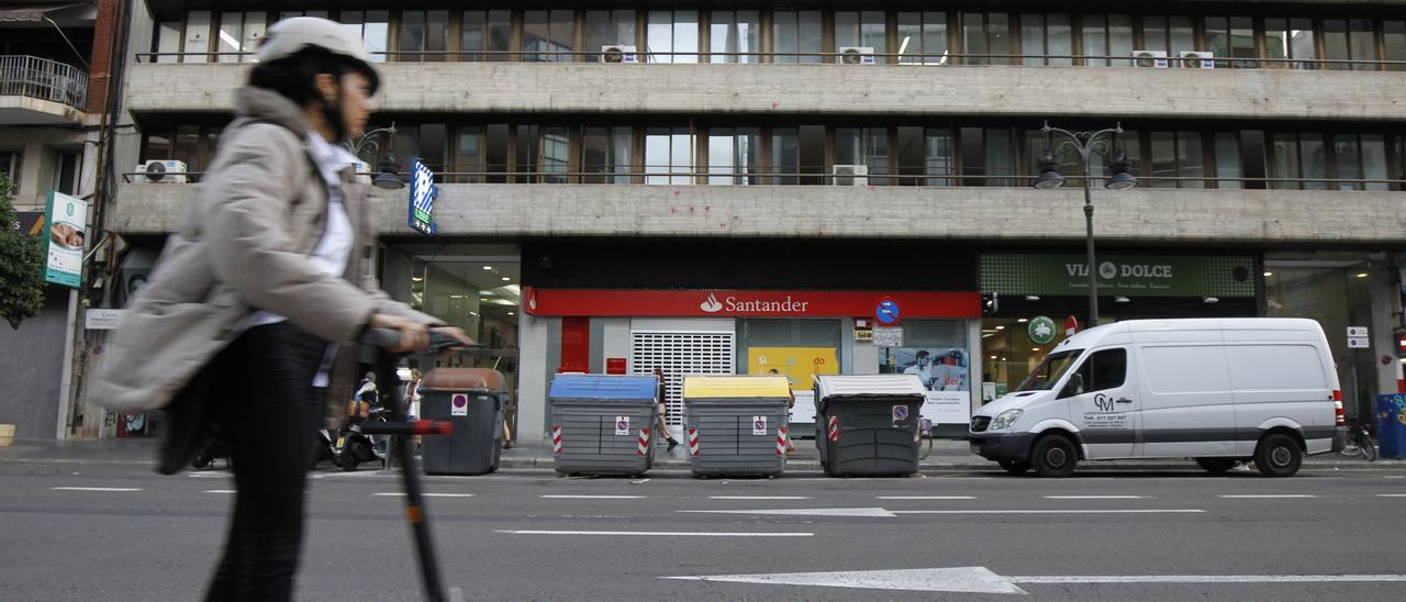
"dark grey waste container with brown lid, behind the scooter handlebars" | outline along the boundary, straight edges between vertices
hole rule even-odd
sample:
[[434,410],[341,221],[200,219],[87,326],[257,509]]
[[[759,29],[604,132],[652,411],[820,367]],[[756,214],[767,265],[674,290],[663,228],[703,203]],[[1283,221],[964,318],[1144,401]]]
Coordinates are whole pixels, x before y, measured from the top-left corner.
[[503,373],[434,369],[420,381],[420,419],[453,423],[450,435],[420,440],[425,474],[484,474],[498,470],[503,449]]

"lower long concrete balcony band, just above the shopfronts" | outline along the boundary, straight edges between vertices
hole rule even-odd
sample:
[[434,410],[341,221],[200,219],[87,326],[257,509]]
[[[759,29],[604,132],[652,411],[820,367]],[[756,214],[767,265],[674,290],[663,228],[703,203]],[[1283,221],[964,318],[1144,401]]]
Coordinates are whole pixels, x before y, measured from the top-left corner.
[[[832,186],[440,184],[440,238],[796,236],[980,242],[1081,242],[1083,191]],[[191,184],[121,184],[110,228],[165,233],[184,218]],[[382,236],[405,225],[408,193],[374,193]],[[1400,243],[1403,193],[1174,190],[1094,191],[1102,242]]]

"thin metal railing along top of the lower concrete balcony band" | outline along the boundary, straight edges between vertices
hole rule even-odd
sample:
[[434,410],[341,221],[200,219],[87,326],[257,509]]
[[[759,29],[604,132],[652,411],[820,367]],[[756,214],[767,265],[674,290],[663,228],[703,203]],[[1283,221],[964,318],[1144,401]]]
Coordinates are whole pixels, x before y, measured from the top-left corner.
[[[820,172],[778,172],[766,169],[738,170],[678,170],[668,166],[627,166],[626,172],[436,172],[439,184],[603,184],[603,186],[835,186],[835,181],[859,180],[856,186],[929,187],[929,188],[1029,188],[1038,174],[957,174],[957,173],[870,173],[835,174]],[[643,167],[643,170],[640,169]],[[378,172],[357,176],[375,177]],[[204,172],[186,172],[184,183],[195,184]],[[404,177],[404,174],[402,174]],[[122,173],[129,184],[157,184],[141,172]],[[1064,176],[1064,187],[1078,188],[1083,176]],[[1102,186],[1108,176],[1094,174],[1090,180]],[[682,180],[682,181],[681,181]],[[730,181],[720,181],[730,180]],[[167,180],[170,181],[170,180]],[[1187,186],[1194,184],[1194,186]],[[1234,187],[1222,184],[1236,184]],[[1137,176],[1137,187],[1156,190],[1243,190],[1261,184],[1268,190],[1305,191],[1400,191],[1406,180],[1393,179],[1322,179],[1322,177],[1218,177],[1218,176]],[[846,184],[848,186],[848,184]]]

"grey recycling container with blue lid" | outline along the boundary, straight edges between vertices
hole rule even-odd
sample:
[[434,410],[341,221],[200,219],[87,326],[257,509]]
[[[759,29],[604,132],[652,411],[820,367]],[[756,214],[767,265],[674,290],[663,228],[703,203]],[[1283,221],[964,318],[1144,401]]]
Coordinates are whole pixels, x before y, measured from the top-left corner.
[[654,466],[659,380],[558,374],[551,405],[553,466],[561,474],[640,475]]

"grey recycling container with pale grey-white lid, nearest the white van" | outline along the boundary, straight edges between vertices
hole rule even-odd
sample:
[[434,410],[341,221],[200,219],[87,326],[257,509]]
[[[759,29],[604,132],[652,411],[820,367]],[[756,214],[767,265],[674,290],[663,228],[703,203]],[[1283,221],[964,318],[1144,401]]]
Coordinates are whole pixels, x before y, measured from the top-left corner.
[[925,399],[917,374],[815,377],[815,447],[825,474],[917,473]]

